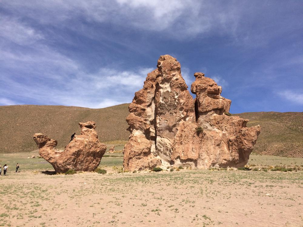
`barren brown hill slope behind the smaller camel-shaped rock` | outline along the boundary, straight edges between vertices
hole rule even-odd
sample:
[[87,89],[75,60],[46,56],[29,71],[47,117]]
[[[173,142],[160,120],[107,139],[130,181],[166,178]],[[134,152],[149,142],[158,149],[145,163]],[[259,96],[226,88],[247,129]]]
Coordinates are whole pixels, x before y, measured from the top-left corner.
[[57,148],[68,144],[72,133],[80,134],[79,122],[96,122],[100,141],[128,140],[128,105],[102,109],[66,106],[0,106],[0,153],[26,152],[37,149],[35,133],[58,140]]

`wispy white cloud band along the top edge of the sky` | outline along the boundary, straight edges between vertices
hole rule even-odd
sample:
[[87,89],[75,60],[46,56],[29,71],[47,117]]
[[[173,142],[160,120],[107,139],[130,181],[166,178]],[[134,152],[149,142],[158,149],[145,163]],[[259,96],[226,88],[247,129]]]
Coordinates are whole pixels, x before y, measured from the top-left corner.
[[42,25],[66,27],[82,35],[90,32],[79,21],[75,23],[78,18],[97,23],[110,21],[116,27],[161,31],[162,35],[174,39],[196,37],[210,31],[236,35],[246,8],[245,4],[198,0],[28,0],[22,3],[11,0],[2,7]]

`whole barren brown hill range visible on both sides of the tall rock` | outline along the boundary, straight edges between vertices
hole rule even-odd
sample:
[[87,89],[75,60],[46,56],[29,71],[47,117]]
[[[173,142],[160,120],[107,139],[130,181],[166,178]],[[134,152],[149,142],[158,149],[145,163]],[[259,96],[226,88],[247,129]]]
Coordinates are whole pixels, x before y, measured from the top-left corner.
[[[73,132],[80,133],[78,122],[93,120],[100,141],[128,140],[128,105],[89,109],[65,106],[0,106],[0,153],[37,149],[34,133],[58,140],[63,148]],[[303,113],[255,112],[234,114],[250,119],[248,126],[261,125],[254,153],[303,157]]]

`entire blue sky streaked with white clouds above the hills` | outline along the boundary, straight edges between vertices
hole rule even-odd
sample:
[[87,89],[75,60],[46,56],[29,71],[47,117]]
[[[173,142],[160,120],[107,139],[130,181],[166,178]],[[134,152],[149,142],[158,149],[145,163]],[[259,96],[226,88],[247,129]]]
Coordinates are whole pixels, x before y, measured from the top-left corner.
[[0,2],[0,105],[129,103],[163,54],[231,113],[303,111],[302,1]]

